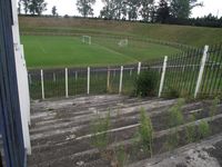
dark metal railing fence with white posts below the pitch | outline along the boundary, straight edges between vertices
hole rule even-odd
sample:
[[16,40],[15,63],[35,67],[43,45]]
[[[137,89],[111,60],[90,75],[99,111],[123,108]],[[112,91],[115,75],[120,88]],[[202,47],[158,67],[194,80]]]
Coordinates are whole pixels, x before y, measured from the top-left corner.
[[131,95],[138,75],[148,69],[159,73],[159,89],[155,90],[159,96],[173,92],[194,97],[222,94],[222,49],[216,45],[165,57],[165,61],[158,59],[142,65],[30,70],[30,95],[32,99],[89,94]]

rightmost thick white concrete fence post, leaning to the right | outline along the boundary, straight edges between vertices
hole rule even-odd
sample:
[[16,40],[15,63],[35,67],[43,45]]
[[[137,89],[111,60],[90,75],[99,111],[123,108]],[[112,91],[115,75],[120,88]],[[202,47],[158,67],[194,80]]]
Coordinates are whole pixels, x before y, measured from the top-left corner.
[[202,81],[202,78],[203,78],[203,71],[204,71],[205,61],[206,61],[206,57],[208,57],[208,50],[209,50],[209,46],[205,46],[204,50],[203,50],[203,57],[201,59],[201,68],[200,68],[200,71],[199,71],[199,77],[198,77],[198,81],[196,81],[196,86],[195,86],[194,98],[196,98],[198,92],[199,92],[200,87],[201,87],[201,81]]

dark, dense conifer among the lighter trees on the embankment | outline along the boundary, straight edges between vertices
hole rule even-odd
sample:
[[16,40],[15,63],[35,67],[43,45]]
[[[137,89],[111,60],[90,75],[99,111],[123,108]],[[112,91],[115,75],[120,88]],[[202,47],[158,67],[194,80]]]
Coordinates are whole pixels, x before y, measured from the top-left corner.
[[170,7],[168,0],[160,0],[157,10],[157,21],[165,23],[167,19],[170,18]]

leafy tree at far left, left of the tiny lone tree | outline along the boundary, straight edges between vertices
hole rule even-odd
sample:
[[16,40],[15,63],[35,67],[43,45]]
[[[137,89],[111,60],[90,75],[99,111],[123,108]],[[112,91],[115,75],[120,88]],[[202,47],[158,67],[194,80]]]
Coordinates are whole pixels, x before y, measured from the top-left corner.
[[41,16],[47,10],[47,2],[44,0],[30,0],[29,11],[31,14]]

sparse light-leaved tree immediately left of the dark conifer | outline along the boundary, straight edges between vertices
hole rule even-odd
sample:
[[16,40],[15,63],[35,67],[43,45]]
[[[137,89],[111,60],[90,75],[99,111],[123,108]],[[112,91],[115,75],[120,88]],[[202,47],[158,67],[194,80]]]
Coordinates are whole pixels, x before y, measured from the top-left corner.
[[140,0],[141,1],[141,10],[140,14],[143,21],[152,21],[153,12],[154,12],[154,0]]

